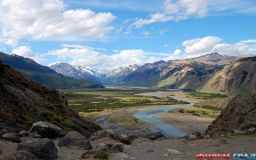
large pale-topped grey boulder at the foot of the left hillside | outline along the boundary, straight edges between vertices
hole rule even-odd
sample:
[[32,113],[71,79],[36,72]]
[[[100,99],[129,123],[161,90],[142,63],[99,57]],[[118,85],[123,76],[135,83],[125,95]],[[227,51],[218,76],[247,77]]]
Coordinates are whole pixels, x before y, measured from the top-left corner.
[[35,134],[41,135],[43,138],[57,138],[63,132],[62,128],[48,122],[36,122],[28,131],[29,136]]

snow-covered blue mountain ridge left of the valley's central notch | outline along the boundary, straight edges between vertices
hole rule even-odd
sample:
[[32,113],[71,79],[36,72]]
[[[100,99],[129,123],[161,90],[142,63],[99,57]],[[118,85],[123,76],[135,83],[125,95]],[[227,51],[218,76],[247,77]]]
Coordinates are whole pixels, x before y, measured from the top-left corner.
[[80,65],[71,65],[68,63],[56,63],[54,65],[49,66],[54,71],[61,73],[62,75],[80,78],[80,79],[88,79],[94,83],[104,83],[103,78],[106,77],[106,73],[100,71],[99,69],[95,69],[92,67],[82,67]]

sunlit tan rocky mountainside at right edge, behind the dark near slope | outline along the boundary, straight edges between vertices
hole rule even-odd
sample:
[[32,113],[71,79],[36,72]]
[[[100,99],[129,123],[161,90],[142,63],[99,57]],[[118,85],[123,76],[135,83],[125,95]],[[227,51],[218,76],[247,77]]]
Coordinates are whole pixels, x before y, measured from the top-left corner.
[[241,58],[217,72],[202,91],[246,93],[256,91],[256,57]]

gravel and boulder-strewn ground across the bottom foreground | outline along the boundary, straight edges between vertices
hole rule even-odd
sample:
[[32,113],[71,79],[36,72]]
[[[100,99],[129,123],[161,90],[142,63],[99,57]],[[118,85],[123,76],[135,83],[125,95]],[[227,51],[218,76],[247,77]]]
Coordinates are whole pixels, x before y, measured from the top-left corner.
[[37,122],[28,132],[2,135],[0,160],[191,160],[200,153],[251,154],[256,152],[255,130],[250,128],[252,134],[243,136],[234,136],[243,133],[233,130],[228,136],[194,132],[182,138],[165,138],[160,132],[138,138],[100,130],[87,139],[79,132],[64,133],[54,124]]

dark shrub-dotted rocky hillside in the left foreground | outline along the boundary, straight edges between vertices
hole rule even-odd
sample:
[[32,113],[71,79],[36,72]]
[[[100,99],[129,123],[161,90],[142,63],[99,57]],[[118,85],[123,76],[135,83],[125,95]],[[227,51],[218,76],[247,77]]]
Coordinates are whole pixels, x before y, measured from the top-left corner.
[[64,131],[72,129],[83,134],[100,129],[99,126],[82,120],[70,109],[62,93],[26,78],[1,61],[0,99],[1,133],[17,133],[30,128],[37,121],[51,122]]

